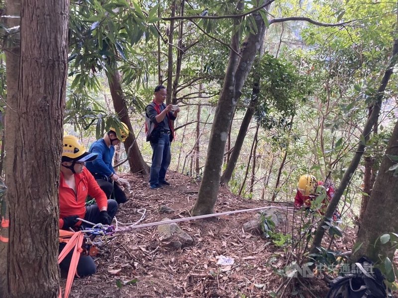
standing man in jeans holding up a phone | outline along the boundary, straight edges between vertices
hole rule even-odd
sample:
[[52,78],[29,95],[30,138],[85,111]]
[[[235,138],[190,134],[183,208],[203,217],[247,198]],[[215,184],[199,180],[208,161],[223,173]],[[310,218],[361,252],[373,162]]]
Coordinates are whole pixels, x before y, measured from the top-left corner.
[[170,143],[174,139],[171,121],[177,118],[180,108],[172,104],[166,106],[166,94],[165,86],[156,86],[154,99],[146,107],[146,136],[153,150],[149,175],[149,185],[152,189],[170,185],[165,177],[171,161]]

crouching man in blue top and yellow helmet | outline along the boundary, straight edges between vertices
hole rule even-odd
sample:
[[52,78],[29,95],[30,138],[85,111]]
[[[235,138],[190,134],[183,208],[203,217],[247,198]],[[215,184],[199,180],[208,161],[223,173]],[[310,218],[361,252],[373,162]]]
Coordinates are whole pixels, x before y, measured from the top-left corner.
[[106,197],[110,199],[113,194],[118,204],[126,202],[127,198],[117,182],[119,176],[113,169],[112,158],[115,152],[114,146],[126,141],[127,136],[128,128],[123,122],[120,122],[116,128],[111,127],[103,138],[91,145],[90,152],[97,153],[98,157],[87,164],[87,168],[96,178]]

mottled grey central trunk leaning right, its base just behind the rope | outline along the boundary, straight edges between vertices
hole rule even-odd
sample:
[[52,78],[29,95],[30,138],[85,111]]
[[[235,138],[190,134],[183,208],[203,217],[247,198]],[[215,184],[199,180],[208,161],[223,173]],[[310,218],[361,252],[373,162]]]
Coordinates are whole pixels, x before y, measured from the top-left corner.
[[[260,3],[261,4],[261,3]],[[243,8],[243,2],[238,2],[237,12]],[[241,89],[250,72],[256,53],[264,40],[266,26],[259,13],[255,13],[257,33],[250,33],[237,54],[240,41],[239,32],[233,32],[228,67],[225,72],[224,85],[217,102],[214,121],[211,128],[207,158],[204,166],[203,179],[199,187],[198,199],[192,209],[192,215],[210,214],[214,211],[220,183],[220,172],[224,156],[228,129],[236,103],[241,95]],[[238,20],[235,19],[235,27]]]

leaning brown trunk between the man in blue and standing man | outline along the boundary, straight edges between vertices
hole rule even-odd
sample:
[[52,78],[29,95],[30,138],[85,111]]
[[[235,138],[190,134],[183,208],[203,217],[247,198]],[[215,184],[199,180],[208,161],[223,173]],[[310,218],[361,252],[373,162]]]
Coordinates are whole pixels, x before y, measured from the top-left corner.
[[132,145],[130,153],[127,156],[128,163],[130,165],[130,172],[148,175],[149,166],[144,161],[144,158],[141,155],[141,151],[138,148],[138,144],[133,133],[133,128],[131,126],[130,118],[128,117],[126,102],[123,98],[120,73],[116,69],[116,67],[113,67],[113,73],[109,74],[108,81],[115,112],[119,116],[120,121],[125,123],[128,127],[128,130],[130,131],[126,141],[123,143],[124,148],[126,149],[126,154],[128,153],[128,150]]

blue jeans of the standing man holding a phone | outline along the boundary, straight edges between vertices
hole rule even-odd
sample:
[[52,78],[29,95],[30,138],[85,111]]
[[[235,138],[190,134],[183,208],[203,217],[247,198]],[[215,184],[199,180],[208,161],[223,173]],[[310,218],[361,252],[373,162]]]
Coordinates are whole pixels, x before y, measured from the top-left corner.
[[151,142],[152,165],[149,175],[149,184],[157,185],[165,180],[167,169],[171,161],[170,136],[161,133],[157,144]]

